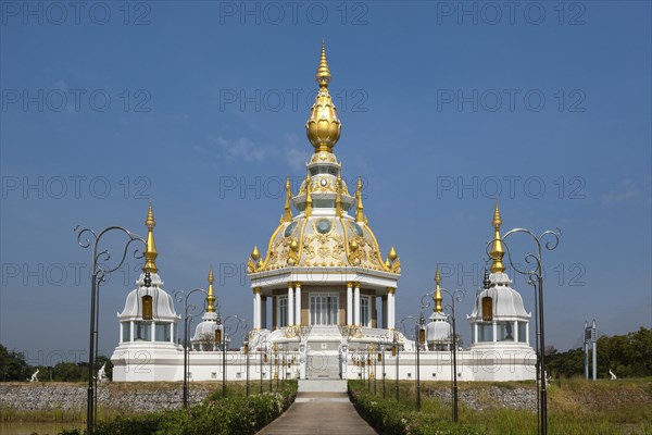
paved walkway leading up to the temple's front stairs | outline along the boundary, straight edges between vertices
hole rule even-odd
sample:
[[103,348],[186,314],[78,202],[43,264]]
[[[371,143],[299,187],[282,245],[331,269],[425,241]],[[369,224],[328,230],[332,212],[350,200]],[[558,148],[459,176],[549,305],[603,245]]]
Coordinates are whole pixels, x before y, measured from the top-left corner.
[[358,414],[346,393],[299,393],[283,415],[259,432],[261,435],[375,433]]

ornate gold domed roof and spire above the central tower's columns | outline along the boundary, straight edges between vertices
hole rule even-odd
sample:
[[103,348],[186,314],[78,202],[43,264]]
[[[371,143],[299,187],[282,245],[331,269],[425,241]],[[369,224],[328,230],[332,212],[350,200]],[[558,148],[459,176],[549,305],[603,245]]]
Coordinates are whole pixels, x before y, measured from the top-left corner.
[[269,238],[266,254],[261,256],[254,248],[248,272],[356,266],[399,274],[401,261],[396,250],[392,248],[384,258],[363,213],[362,179],[358,179],[356,190],[351,195],[341,175],[341,163],[331,152],[339,139],[340,122],[328,95],[330,70],[324,45],[316,78],[319,94],[306,124],[315,153],[306,163],[305,179],[296,195],[289,179],[286,182],[280,223]]

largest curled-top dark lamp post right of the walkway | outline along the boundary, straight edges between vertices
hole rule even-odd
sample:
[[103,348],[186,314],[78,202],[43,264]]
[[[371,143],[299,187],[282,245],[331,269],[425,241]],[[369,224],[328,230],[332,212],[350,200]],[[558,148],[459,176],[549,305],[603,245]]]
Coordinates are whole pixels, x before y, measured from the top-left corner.
[[[528,236],[537,247],[536,252],[527,252],[525,254],[526,264],[531,265],[529,269],[519,269],[517,264],[512,261],[512,253],[506,244],[507,237],[512,234],[525,234]],[[543,246],[546,250],[552,251],[560,244],[560,237],[562,232],[557,228],[556,232],[552,229],[544,231],[541,235],[537,236],[531,231],[526,228],[514,228],[505,233],[502,237],[502,243],[505,246],[505,250],[507,253],[507,258],[510,261],[510,265],[512,269],[522,275],[527,276],[528,284],[535,287],[535,291],[537,293],[538,299],[538,325],[539,325],[539,373],[540,377],[540,390],[539,390],[539,431],[542,435],[548,434],[548,393],[546,390],[546,380],[543,378],[546,374],[546,328],[543,327],[543,260],[541,257],[541,245],[543,238],[549,237],[549,241],[544,241]],[[491,240],[489,244],[491,244]]]

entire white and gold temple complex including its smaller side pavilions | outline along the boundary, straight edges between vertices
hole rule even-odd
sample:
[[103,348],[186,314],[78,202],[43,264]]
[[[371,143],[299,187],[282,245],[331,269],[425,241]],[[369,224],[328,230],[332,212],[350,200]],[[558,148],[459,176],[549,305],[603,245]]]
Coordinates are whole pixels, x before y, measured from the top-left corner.
[[[305,177],[298,191],[292,191],[288,178],[280,221],[265,251],[255,246],[247,260],[252,315],[243,346],[228,349],[230,339],[224,334],[229,330],[215,307],[212,268],[202,321],[191,338],[178,338],[180,316],[173,298],[162,289],[155,265],[150,204],[143,273],[118,314],[120,343],[112,357],[114,380],[180,381],[184,345],[190,353],[188,377],[196,381],[223,376],[243,380],[247,374],[260,380],[410,380],[416,375],[417,350],[422,380],[534,380],[531,314],[511,287],[502,263],[498,202],[492,220],[491,273],[485,271],[484,286],[466,316],[472,328],[469,347],[462,349],[454,334],[452,322],[459,323],[462,316],[457,313],[454,320],[452,313],[444,312],[444,295],[452,291],[442,285],[439,268],[431,294],[432,312],[425,313],[429,322],[422,311],[423,320],[415,328],[399,327],[396,304],[401,260],[393,247],[383,254],[363,207],[361,177],[350,190],[342,163],[334,153],[341,123],[328,90],[331,75],[324,45],[315,78],[319,88],[305,124],[314,152],[306,162]],[[418,309],[414,307],[417,314]],[[139,360],[139,356],[145,359]]]

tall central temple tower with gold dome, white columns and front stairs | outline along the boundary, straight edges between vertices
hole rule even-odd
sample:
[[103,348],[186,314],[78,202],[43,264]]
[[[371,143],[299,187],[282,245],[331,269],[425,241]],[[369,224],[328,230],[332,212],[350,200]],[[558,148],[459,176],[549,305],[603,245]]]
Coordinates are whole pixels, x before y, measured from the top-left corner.
[[[341,123],[328,91],[324,46],[315,78],[319,89],[305,123],[314,153],[305,179],[296,194],[288,179],[284,213],[267,251],[261,257],[254,247],[248,260],[252,346],[296,347],[309,359],[308,376],[340,377],[349,347],[393,339],[401,260],[393,248],[381,256],[363,211],[361,178],[354,195],[342,179],[342,164],[333,152]],[[402,335],[398,339],[404,343]],[[310,361],[311,350],[319,350],[324,362]],[[329,370],[312,373],[324,364]]]

